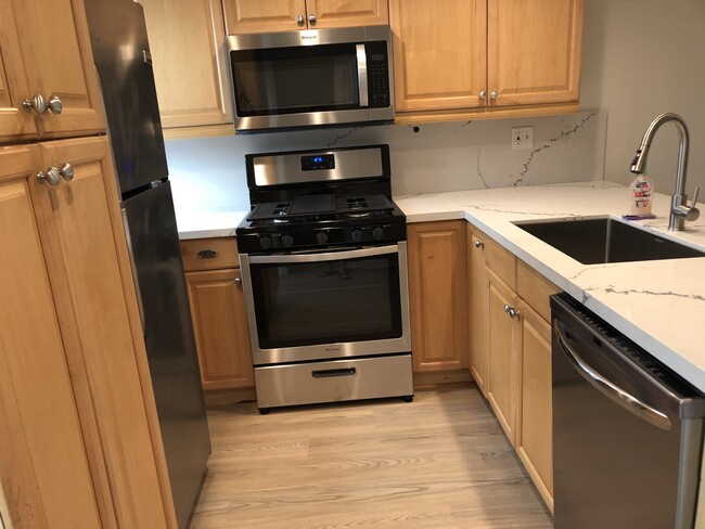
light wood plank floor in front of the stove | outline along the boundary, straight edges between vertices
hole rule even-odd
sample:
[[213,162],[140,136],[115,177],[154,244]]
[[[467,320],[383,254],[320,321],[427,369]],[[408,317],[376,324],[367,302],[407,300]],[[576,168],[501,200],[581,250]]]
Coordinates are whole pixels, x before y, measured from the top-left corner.
[[209,409],[191,529],[552,528],[475,387],[259,415]]

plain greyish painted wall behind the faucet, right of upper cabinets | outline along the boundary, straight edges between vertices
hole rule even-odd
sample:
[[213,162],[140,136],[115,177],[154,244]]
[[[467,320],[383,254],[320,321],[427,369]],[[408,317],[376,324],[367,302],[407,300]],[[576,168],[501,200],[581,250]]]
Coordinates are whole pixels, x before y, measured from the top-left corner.
[[[705,188],[705,1],[586,0],[582,108],[606,112],[605,179],[628,183],[629,164],[658,114],[680,114],[690,130],[687,192]],[[648,173],[671,194],[678,133],[665,125]]]

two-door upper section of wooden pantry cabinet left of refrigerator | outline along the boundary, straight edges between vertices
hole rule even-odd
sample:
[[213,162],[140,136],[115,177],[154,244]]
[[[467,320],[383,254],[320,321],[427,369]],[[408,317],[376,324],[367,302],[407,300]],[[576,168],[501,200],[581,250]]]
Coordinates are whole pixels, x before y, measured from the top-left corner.
[[[0,0],[0,142],[104,130],[82,1]],[[61,112],[25,112],[36,96],[57,98]]]

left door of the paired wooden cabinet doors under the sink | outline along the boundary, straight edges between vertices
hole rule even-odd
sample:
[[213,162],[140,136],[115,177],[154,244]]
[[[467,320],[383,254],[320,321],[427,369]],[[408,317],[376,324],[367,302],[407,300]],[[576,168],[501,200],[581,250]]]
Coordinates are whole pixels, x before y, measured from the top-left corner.
[[505,307],[516,307],[516,294],[491,270],[486,269],[488,287],[488,387],[487,399],[512,446],[516,442],[516,356],[518,323]]

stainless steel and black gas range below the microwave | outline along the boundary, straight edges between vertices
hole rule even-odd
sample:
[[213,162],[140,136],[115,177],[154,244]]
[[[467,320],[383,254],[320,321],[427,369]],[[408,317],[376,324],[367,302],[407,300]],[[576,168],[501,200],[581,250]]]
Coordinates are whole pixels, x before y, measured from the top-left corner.
[[413,395],[387,145],[246,156],[238,227],[257,405]]

